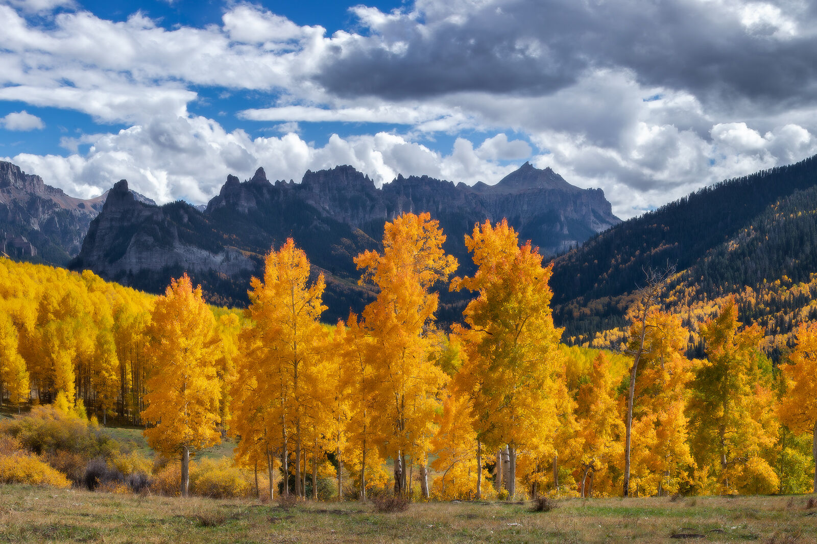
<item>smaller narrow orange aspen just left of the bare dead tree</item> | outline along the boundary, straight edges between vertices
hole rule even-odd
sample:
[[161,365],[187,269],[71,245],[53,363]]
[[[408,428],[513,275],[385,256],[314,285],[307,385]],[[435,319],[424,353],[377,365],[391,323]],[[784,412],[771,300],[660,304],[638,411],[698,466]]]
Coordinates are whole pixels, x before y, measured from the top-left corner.
[[600,352],[576,398],[576,422],[582,441],[582,497],[592,497],[596,473],[609,473],[606,469],[614,466],[623,453],[624,424],[615,398],[616,385],[609,359]]

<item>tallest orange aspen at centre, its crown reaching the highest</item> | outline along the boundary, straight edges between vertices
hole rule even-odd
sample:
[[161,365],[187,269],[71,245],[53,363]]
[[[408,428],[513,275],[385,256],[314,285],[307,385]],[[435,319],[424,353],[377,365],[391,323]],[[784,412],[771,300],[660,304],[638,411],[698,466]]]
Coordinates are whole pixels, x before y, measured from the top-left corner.
[[395,467],[395,493],[406,488],[405,459],[421,462],[423,495],[428,496],[426,452],[434,434],[439,391],[448,376],[435,365],[438,351],[435,312],[439,294],[431,287],[447,281],[457,259],[446,255],[440,225],[428,213],[404,214],[386,223],[383,253],[368,250],[355,258],[364,281],[380,289],[363,313],[373,341],[377,409],[382,441]]

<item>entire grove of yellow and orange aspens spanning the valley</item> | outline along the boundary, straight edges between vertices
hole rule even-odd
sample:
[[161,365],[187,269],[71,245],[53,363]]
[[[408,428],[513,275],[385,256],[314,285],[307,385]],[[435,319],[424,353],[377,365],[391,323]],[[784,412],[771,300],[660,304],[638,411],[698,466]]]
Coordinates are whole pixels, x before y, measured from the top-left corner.
[[[225,436],[269,498],[817,491],[817,325],[773,365],[734,301],[690,331],[653,285],[625,352],[566,347],[551,265],[506,221],[465,237],[471,276],[444,241],[427,213],[386,223],[382,250],[355,259],[376,299],[331,325],[292,239],[243,311],[208,306],[186,275],[153,296],[0,259],[0,403],[144,426],[181,462],[182,495],[190,456]],[[473,294],[450,328],[441,290]],[[690,334],[705,357],[687,356]]]

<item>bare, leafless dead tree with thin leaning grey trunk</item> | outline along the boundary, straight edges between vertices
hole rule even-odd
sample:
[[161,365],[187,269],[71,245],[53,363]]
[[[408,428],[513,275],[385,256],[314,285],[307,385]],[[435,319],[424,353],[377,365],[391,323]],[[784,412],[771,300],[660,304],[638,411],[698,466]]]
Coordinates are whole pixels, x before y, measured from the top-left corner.
[[630,444],[632,438],[632,401],[636,393],[636,375],[638,373],[638,363],[641,356],[645,355],[645,338],[647,336],[647,329],[650,325],[647,324],[647,316],[650,315],[650,308],[659,303],[663,295],[664,287],[667,285],[667,280],[675,274],[675,265],[667,263],[666,268],[645,268],[645,285],[636,291],[638,295],[638,303],[641,307],[638,308],[638,313],[633,321],[636,325],[636,334],[632,340],[635,339],[636,347],[626,349],[624,352],[632,355],[632,368],[630,369],[630,388],[627,391],[627,422],[626,433],[624,438],[624,497],[630,494]]

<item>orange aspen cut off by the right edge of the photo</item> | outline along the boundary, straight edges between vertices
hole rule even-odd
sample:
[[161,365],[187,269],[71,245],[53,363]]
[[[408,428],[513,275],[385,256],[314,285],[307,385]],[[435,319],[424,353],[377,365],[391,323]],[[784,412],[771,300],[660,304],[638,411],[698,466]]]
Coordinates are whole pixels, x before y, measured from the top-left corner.
[[[812,458],[817,467],[817,323],[802,325],[797,331],[797,345],[780,365],[784,394],[778,405],[780,422],[792,432],[812,435]],[[817,493],[817,468],[814,487]]]

